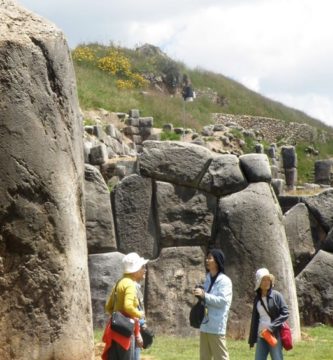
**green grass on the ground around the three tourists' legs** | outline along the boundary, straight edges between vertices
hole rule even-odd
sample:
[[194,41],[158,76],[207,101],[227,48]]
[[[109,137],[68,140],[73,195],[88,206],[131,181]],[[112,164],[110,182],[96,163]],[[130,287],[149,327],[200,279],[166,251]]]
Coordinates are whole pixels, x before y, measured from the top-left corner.
[[[332,360],[333,327],[318,326],[302,329],[303,340],[294,344],[291,351],[284,351],[284,358],[290,360]],[[100,339],[100,337],[99,337]],[[230,359],[249,360],[254,358],[254,348],[249,349],[246,340],[227,340]],[[157,336],[150,349],[142,352],[142,358],[151,360],[198,360],[199,337]]]

